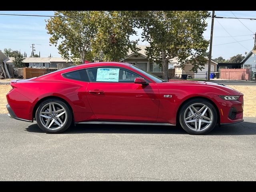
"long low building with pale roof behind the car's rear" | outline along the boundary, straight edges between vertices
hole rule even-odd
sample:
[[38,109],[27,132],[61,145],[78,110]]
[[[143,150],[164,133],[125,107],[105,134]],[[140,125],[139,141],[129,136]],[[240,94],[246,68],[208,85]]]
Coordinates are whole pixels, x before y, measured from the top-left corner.
[[[12,65],[14,57],[9,57],[4,62]],[[65,60],[57,57],[25,57],[22,61],[26,67],[45,67],[57,68],[57,64],[73,64],[71,60]]]

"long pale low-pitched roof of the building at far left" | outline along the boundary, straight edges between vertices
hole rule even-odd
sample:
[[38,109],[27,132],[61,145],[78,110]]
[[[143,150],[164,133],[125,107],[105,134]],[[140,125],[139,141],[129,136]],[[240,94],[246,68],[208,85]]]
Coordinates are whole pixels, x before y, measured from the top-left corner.
[[[9,57],[4,62],[12,63],[14,57]],[[50,63],[50,62],[72,62],[58,57],[25,57],[23,63]]]

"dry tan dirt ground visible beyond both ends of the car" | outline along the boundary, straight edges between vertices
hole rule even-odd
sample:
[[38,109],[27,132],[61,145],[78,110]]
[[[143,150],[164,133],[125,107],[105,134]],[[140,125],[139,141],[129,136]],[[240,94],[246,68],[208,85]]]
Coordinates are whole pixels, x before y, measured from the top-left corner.
[[[256,117],[255,102],[256,102],[256,86],[238,86],[230,85],[244,94],[244,117]],[[0,114],[7,113],[6,109],[6,94],[11,90],[10,85],[0,85]]]

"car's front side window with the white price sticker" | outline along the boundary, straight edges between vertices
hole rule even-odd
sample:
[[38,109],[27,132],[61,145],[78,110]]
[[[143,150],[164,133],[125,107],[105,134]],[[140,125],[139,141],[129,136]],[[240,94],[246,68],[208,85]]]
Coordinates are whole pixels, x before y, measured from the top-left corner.
[[134,82],[137,74],[122,68],[91,68],[88,69],[91,82]]

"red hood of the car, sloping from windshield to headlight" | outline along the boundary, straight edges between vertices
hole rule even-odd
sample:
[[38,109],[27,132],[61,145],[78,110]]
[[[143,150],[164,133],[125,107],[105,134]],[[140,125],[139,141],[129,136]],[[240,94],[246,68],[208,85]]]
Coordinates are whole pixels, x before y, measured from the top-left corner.
[[226,93],[226,95],[243,95],[241,92],[228,87],[224,84],[208,82],[208,81],[193,81],[193,80],[169,80],[168,82],[164,82],[165,84],[181,84],[181,85],[191,85],[191,86],[209,86],[213,88],[217,88]]

